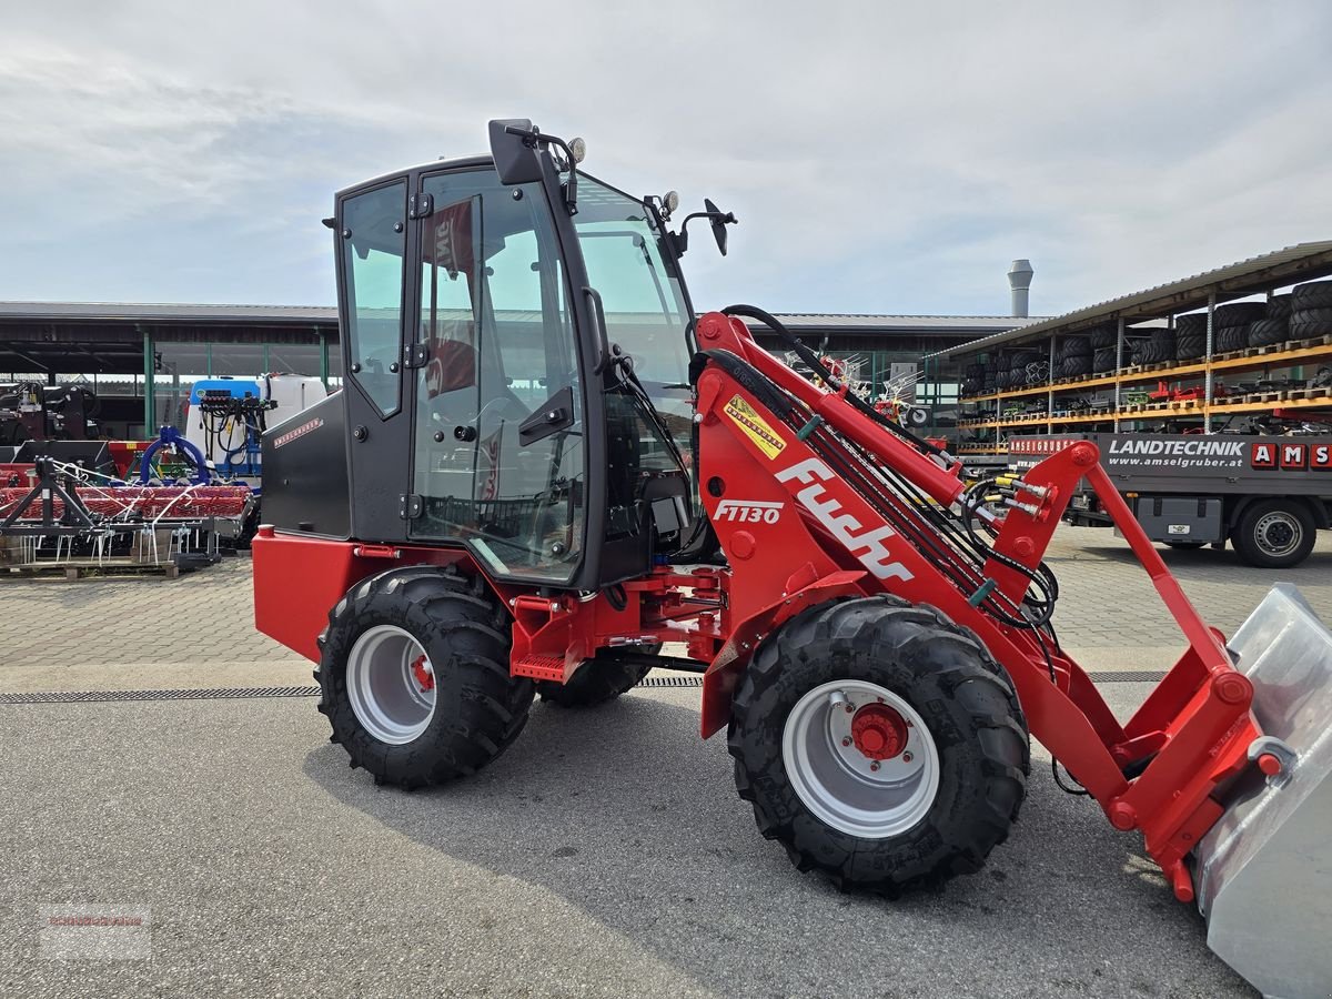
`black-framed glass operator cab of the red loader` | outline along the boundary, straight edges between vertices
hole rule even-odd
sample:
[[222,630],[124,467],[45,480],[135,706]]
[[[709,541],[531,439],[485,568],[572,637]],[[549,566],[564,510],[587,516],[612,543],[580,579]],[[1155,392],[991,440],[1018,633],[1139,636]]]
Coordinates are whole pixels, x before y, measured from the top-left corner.
[[352,535],[589,591],[691,531],[691,313],[650,205],[579,173],[570,214],[569,164],[534,164],[337,197]]

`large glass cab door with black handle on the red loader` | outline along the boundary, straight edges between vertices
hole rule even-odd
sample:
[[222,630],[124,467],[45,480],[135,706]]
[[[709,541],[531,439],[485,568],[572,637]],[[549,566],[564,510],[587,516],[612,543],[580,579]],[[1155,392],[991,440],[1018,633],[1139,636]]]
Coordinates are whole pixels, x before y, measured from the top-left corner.
[[486,571],[567,583],[583,555],[579,357],[539,184],[492,168],[426,173],[417,193],[409,535],[465,543]]

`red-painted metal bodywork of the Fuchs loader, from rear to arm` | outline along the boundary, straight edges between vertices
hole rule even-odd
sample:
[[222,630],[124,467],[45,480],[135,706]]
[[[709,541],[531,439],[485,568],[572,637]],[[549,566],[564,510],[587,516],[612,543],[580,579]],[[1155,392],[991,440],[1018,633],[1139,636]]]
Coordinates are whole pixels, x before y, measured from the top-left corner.
[[[758,348],[739,320],[710,313],[698,324],[698,338],[703,350],[745,360],[934,502],[950,506],[963,494],[960,464],[927,457],[838,393],[806,381]],[[1071,658],[1043,649],[1034,630],[974,606],[978,594],[959,589],[935,557],[888,526],[807,444],[803,430],[775,425],[761,401],[718,365],[705,369],[697,392],[699,492],[730,567],[661,567],[623,585],[622,607],[605,594],[547,597],[493,583],[513,611],[513,673],[563,681],[601,647],[681,642],[691,658],[710,663],[701,713],[707,737],[726,725],[754,647],[795,614],[829,599],[880,593],[930,603],[984,642],[1012,678],[1035,738],[1112,825],[1143,831],[1176,896],[1192,898],[1183,858],[1220,815],[1219,786],[1248,766],[1248,746],[1261,734],[1249,711],[1253,690],[1102,470],[1095,445],[1074,444],[1022,477],[1023,502],[1002,521],[994,550],[1036,569],[1079,482],[1096,490],[1188,642],[1126,725]],[[895,515],[910,518],[912,510],[896,502]],[[261,529],[253,547],[258,629],[312,659],[318,658],[316,638],[328,611],[360,579],[410,562],[457,562],[481,571],[462,549],[332,542],[272,529]],[[986,586],[1014,602],[1028,586],[1024,574],[998,558],[986,563],[984,577]],[[300,601],[292,599],[296,593]],[[874,738],[887,745],[890,735],[884,730]]]

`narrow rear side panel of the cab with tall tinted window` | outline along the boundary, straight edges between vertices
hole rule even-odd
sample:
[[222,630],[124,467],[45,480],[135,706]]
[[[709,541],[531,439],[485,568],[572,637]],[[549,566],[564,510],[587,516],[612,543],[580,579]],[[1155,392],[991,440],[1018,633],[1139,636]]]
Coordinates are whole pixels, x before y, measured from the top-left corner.
[[405,401],[404,342],[414,325],[408,226],[409,178],[338,194],[341,324],[352,481],[352,537],[404,541],[412,413]]

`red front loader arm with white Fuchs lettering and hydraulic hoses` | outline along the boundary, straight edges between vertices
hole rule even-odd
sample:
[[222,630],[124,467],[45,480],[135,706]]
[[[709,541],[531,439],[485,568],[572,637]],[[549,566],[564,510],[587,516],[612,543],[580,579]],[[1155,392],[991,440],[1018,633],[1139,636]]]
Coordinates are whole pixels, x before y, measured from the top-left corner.
[[[747,635],[809,599],[854,589],[931,605],[982,639],[1012,678],[1031,733],[1116,829],[1143,831],[1175,895],[1192,899],[1184,858],[1221,814],[1219,789],[1251,766],[1249,747],[1263,735],[1249,711],[1253,686],[1152,549],[1095,446],[1080,442],[999,486],[1006,513],[990,541],[976,534],[979,510],[947,456],[923,453],[876,422],[844,388],[799,377],[738,318],[709,313],[698,336],[707,358],[698,377],[701,494],[731,565],[734,629],[731,657],[718,657],[705,678],[705,735],[725,722],[753,647]],[[1048,614],[1030,593],[1044,579],[1042,558],[1083,481],[1188,642],[1123,726],[1038,623]]]

